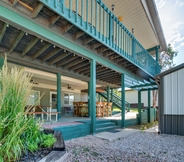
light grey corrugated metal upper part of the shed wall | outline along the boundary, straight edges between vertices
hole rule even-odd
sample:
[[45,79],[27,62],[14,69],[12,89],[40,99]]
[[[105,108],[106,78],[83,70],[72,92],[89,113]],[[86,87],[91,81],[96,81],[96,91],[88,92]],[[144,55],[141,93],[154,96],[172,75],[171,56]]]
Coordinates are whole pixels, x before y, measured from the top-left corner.
[[184,115],[184,69],[163,77],[164,114]]

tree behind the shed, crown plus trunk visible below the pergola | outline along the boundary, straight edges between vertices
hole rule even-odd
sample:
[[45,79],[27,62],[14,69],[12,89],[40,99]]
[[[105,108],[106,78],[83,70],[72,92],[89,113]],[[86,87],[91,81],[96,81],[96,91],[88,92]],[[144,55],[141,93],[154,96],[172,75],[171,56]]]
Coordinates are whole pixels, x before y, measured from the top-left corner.
[[[177,56],[177,54],[178,54],[178,51],[174,50],[172,48],[171,44],[168,44],[167,51],[164,51],[160,54],[159,64],[161,66],[161,71],[165,71],[165,70],[170,69],[173,66],[175,66],[175,64],[173,63],[173,59],[174,59],[174,57]],[[153,94],[153,97],[152,97],[153,108],[155,108],[156,103],[157,103],[158,91],[153,90],[152,94]]]

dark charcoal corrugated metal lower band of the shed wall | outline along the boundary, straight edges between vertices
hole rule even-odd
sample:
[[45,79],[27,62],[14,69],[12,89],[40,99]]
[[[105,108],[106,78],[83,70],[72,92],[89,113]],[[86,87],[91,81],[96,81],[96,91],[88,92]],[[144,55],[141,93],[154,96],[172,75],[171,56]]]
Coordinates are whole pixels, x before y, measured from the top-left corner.
[[164,134],[184,135],[184,115],[161,116],[160,130]]

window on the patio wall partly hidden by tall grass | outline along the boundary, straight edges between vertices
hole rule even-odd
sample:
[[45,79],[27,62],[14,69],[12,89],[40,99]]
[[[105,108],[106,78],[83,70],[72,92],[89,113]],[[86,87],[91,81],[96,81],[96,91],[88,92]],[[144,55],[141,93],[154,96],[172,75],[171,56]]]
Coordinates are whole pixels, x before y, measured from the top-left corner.
[[29,95],[28,105],[40,105],[40,91],[33,91],[32,95]]

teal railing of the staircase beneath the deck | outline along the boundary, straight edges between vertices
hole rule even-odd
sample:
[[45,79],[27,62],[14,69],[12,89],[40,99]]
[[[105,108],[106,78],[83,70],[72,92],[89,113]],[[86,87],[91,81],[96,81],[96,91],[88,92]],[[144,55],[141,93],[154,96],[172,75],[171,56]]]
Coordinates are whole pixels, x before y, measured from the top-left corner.
[[[105,92],[98,92],[98,94],[107,100],[107,92],[106,91]],[[113,94],[113,100],[111,98],[111,95],[109,97],[110,97],[110,101],[113,102],[114,106],[117,106],[118,108],[121,109],[121,97],[117,96],[116,94]],[[127,111],[130,111],[130,103],[127,101],[125,101],[125,109]]]

